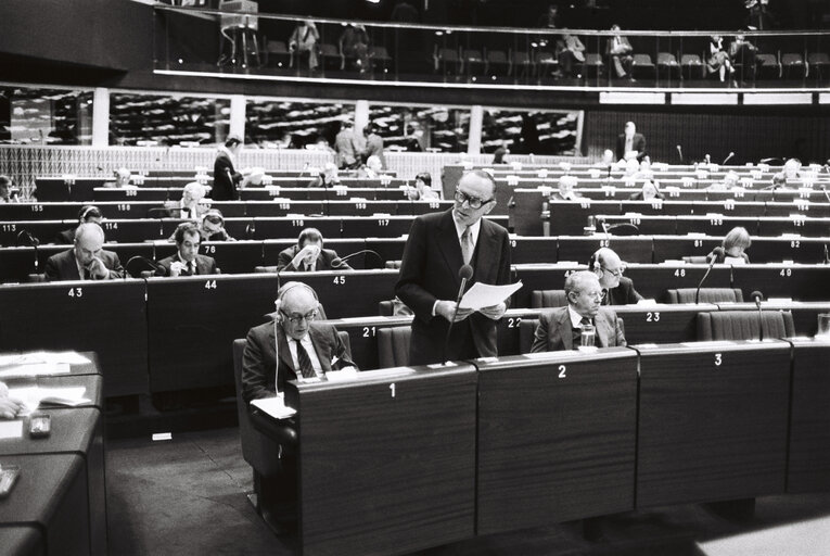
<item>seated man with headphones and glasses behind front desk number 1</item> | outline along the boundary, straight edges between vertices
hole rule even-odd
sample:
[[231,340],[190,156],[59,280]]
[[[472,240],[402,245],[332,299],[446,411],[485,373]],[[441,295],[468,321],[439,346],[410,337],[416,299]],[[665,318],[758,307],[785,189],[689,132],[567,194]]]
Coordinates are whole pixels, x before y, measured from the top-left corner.
[[[245,403],[273,397],[284,391],[289,380],[322,378],[330,370],[356,368],[337,329],[316,321],[320,303],[309,286],[286,282],[277,292],[276,306],[272,321],[247,332],[242,355]],[[279,350],[279,368],[274,345]]]

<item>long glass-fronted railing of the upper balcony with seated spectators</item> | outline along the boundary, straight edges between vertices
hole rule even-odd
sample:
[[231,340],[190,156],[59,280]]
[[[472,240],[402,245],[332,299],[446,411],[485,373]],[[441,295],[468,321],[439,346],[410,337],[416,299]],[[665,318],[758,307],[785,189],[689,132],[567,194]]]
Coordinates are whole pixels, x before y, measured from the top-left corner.
[[497,89],[819,90],[830,85],[828,30],[475,28],[304,21],[162,4],[155,24],[158,73]]

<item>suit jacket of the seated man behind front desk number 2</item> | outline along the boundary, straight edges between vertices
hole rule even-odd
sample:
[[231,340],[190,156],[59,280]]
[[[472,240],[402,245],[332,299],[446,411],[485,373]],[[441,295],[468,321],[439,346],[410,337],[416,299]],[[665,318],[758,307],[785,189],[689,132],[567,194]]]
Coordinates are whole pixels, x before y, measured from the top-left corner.
[[[616,313],[610,308],[600,307],[599,313],[593,318],[593,324],[597,327],[597,339],[600,348],[626,344],[623,330],[616,320]],[[573,326],[567,307],[557,307],[542,312],[539,315],[539,326],[536,327],[531,352],[556,352],[573,349]]]

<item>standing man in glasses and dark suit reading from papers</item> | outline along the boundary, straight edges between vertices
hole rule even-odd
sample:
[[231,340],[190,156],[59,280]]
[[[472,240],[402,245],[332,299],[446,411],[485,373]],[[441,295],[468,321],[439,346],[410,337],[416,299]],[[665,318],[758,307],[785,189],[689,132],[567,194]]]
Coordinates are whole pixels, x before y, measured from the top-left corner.
[[[443,362],[444,344],[461,286],[459,269],[469,264],[467,282],[505,285],[510,280],[510,239],[484,215],[496,206],[496,182],[472,170],[458,182],[455,205],[443,213],[419,216],[404,249],[397,296],[414,312],[409,364]],[[507,309],[499,303],[478,312],[459,309],[448,342],[447,359],[497,355],[496,321]]]

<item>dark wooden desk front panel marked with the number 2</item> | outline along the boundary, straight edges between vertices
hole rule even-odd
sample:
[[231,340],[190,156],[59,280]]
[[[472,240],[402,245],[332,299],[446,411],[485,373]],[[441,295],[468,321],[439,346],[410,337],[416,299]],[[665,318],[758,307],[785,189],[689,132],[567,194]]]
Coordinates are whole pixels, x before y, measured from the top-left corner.
[[477,534],[634,508],[637,356],[605,352],[481,367]]

